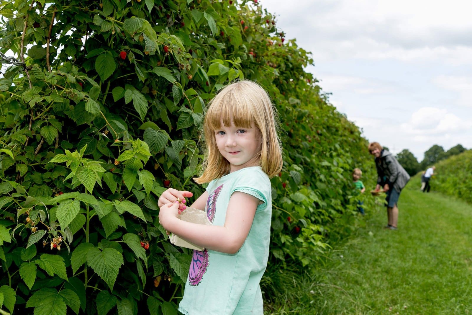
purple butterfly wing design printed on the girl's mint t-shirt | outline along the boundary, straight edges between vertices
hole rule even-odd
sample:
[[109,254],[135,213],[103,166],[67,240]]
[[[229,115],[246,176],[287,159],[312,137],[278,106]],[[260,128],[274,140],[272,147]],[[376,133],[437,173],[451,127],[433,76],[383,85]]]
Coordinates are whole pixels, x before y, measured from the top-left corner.
[[[208,196],[207,216],[208,220],[210,220],[212,223],[215,219],[216,200],[218,199],[221,188],[223,188],[223,185],[217,187],[215,191],[213,191],[210,196]],[[203,275],[207,271],[208,263],[208,251],[206,249],[203,251],[194,250],[192,263],[190,264],[190,270],[188,272],[188,282],[191,286],[196,286],[202,281]]]

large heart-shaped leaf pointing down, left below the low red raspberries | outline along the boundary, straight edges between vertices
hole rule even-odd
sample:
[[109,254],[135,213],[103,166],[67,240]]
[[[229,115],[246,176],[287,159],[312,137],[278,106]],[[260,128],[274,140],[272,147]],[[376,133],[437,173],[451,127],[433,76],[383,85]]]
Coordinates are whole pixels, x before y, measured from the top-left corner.
[[91,248],[87,253],[87,262],[100,278],[107,282],[110,290],[113,290],[118,277],[119,268],[123,264],[123,255],[118,250],[108,247],[103,251],[99,248]]

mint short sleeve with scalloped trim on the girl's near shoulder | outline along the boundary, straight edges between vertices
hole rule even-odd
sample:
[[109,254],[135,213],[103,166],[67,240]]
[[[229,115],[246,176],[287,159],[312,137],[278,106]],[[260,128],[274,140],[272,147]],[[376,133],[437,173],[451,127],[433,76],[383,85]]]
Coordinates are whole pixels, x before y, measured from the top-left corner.
[[235,180],[231,194],[240,191],[262,201],[257,210],[265,208],[271,198],[270,179],[260,168],[248,168],[239,174]]

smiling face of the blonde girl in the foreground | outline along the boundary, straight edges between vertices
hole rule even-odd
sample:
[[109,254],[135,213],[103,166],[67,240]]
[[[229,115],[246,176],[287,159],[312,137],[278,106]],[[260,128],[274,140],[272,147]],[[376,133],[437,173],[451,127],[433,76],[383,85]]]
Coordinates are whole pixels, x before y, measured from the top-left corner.
[[[223,125],[223,123],[222,123]],[[258,128],[241,128],[231,125],[215,130],[219,153],[229,162],[229,172],[258,165],[262,136]]]

